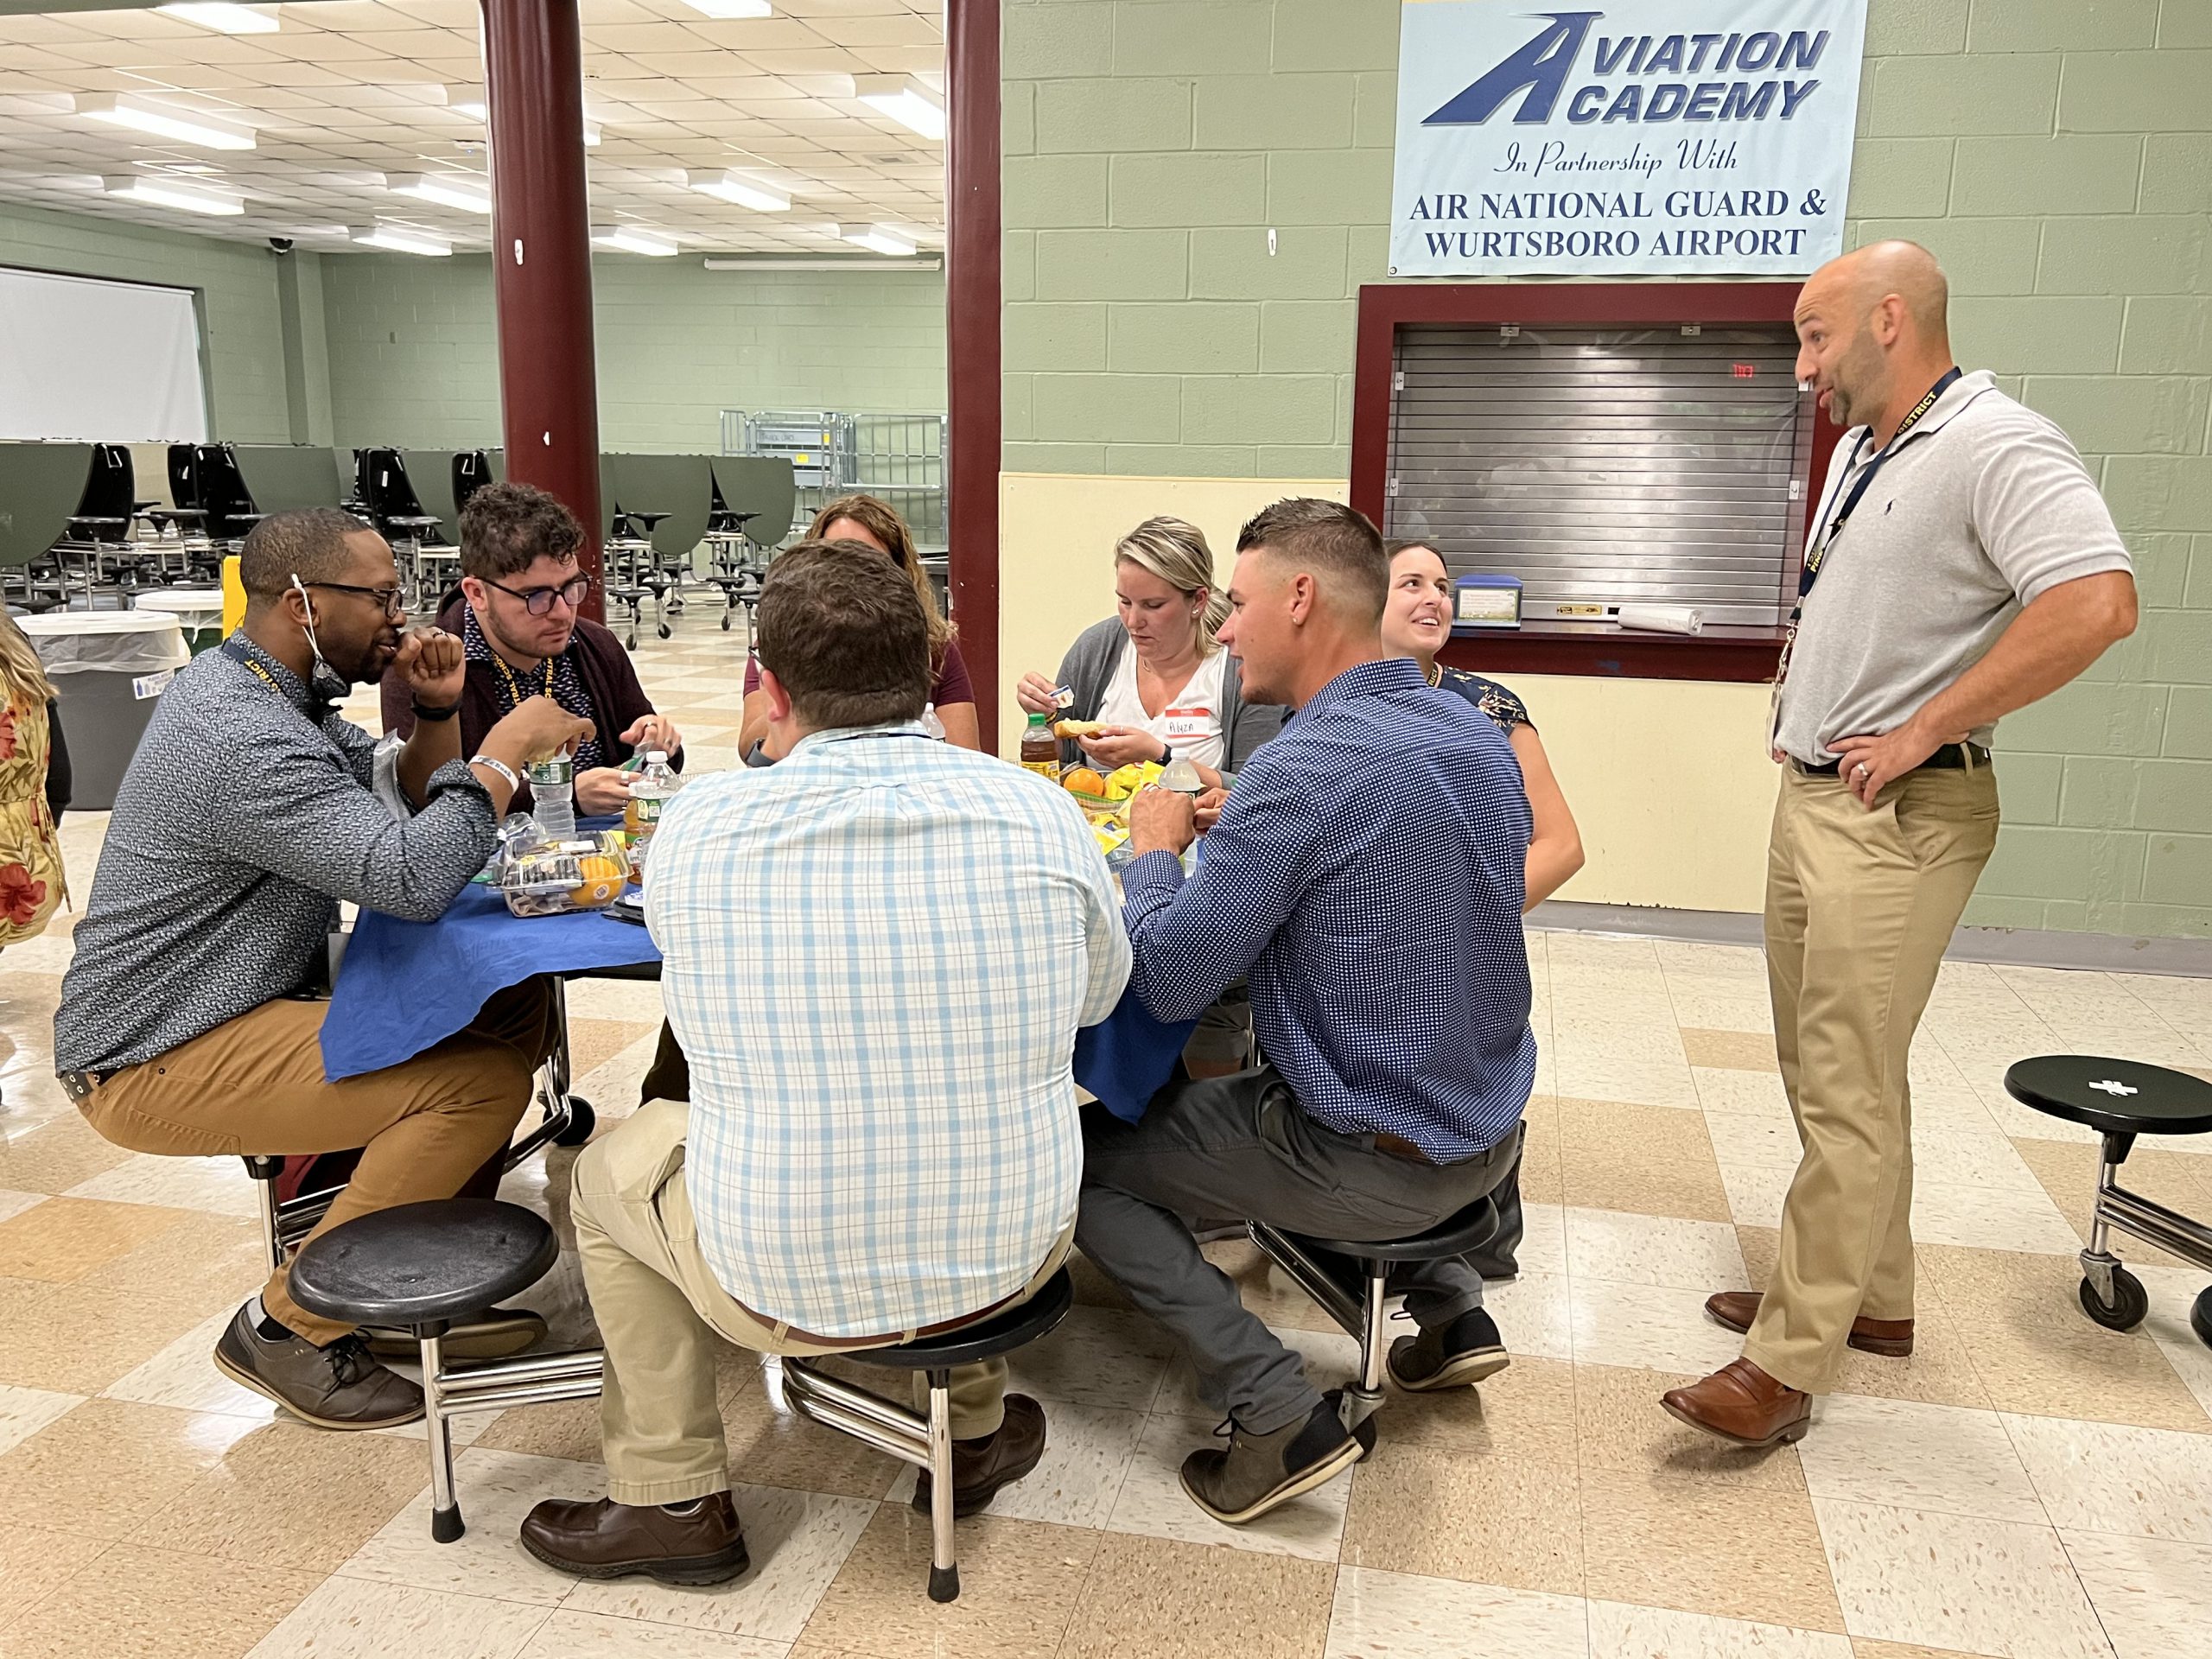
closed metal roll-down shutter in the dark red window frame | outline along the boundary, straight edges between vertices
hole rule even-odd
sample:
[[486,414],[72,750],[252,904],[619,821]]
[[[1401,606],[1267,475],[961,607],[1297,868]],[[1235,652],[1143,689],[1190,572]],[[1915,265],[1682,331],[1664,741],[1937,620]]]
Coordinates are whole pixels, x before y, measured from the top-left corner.
[[1632,602],[1774,626],[1814,427],[1794,361],[1785,323],[1402,325],[1387,533],[1520,577],[1537,622]]

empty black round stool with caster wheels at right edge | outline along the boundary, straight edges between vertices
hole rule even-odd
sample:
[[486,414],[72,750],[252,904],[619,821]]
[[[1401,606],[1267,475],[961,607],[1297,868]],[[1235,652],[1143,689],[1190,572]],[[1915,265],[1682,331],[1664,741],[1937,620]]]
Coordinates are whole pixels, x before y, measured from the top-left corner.
[[[2185,1071],[2104,1055],[2037,1055],[2004,1073],[2004,1093],[2104,1137],[2097,1208],[2081,1252],[2081,1312],[2106,1329],[2135,1329],[2150,1312],[2143,1281],[2119,1265],[2110,1234],[2126,1232],[2212,1272],[2212,1228],[2119,1186],[2137,1135],[2212,1133],[2212,1084]],[[2212,1290],[2197,1298],[2197,1336],[2212,1347]]]

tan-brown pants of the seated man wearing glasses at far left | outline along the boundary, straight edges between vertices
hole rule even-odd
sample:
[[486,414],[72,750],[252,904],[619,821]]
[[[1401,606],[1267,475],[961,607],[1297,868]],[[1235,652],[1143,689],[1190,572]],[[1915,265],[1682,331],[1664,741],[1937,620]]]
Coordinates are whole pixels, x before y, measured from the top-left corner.
[[[507,1139],[531,1104],[531,1075],[553,1048],[553,1000],[526,980],[414,1060],[323,1079],[327,1002],[279,998],[100,1084],[77,1110],[115,1146],[186,1157],[292,1157],[363,1148],[352,1179],[314,1234],[372,1210],[451,1199]],[[299,1307],[270,1274],[261,1303],[310,1343],[349,1325]]]

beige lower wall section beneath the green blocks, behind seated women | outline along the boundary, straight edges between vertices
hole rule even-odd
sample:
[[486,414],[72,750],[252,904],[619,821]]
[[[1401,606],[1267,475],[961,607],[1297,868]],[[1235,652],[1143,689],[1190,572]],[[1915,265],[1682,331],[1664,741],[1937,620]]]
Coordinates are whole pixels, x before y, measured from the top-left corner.
[[[1113,611],[1113,544],[1155,513],[1188,518],[1225,582],[1237,529],[1283,495],[1343,498],[1340,478],[1000,476],[1000,748],[1022,712],[1013,681],[1051,675]],[[1774,765],[1765,686],[1513,675],[1566,792],[1588,863],[1559,898],[1756,911]]]

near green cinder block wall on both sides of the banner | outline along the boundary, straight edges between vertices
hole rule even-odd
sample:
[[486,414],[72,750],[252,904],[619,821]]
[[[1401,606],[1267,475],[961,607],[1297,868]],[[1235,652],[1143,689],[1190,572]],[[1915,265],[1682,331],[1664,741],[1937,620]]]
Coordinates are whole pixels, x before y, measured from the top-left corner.
[[[1398,15],[1006,0],[1009,469],[1349,471]],[[1944,261],[1960,361],[2073,434],[2141,582],[2004,721],[1966,920],[2212,938],[2212,7],[1871,0],[1849,212]]]

